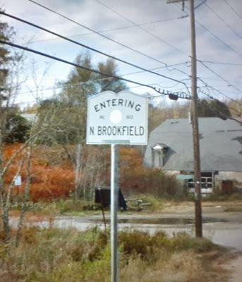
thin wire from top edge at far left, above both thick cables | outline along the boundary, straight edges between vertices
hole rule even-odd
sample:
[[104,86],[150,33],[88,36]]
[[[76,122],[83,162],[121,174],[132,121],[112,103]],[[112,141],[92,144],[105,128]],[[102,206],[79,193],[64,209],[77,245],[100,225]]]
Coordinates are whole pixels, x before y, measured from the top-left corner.
[[[121,42],[119,42],[119,41],[117,41],[115,39],[111,39],[107,35],[103,35],[102,33],[98,32],[97,30],[93,30],[92,28],[87,27],[86,25],[83,25],[82,23],[78,23],[76,20],[72,20],[71,18],[68,18],[67,16],[64,16],[62,13],[54,11],[52,8],[48,8],[47,6],[44,6],[44,5],[40,4],[40,3],[37,3],[37,1],[33,1],[33,0],[28,0],[28,1],[32,2],[33,4],[36,4],[37,6],[40,6],[40,7],[44,8],[44,9],[46,9],[47,11],[50,11],[50,12],[52,12],[52,13],[58,15],[58,16],[61,16],[62,18],[65,18],[66,20],[71,21],[71,23],[75,23],[76,25],[79,25],[80,27],[83,27],[83,28],[85,28],[87,30],[90,30],[92,33],[95,33],[95,34],[97,34],[97,35],[99,35],[101,37],[104,37],[105,39],[108,39],[109,41],[114,42],[115,44],[119,44],[120,46],[125,47],[126,49],[129,49],[129,50],[135,52],[136,54],[140,54],[142,56],[145,56],[148,59],[151,59],[152,61],[156,61],[157,63],[162,63],[164,66],[167,66],[167,63],[164,63],[163,61],[159,61],[158,59],[155,59],[154,57],[149,56],[149,55],[143,53],[142,51],[138,51],[137,49],[129,47],[128,45],[123,44],[123,43],[121,43]],[[181,17],[181,18],[183,18],[183,17]],[[168,71],[173,71],[173,70],[169,70],[169,68],[167,68],[167,70]],[[179,71],[179,72],[183,73],[184,75],[189,76],[187,73],[179,70],[179,68],[174,68],[174,71]]]

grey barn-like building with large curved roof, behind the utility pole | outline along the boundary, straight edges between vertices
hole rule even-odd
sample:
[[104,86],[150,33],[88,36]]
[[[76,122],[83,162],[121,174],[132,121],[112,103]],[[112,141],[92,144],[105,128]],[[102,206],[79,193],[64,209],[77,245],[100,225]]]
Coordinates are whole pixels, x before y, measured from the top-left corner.
[[[242,184],[242,125],[220,118],[199,118],[202,192],[215,187],[231,190]],[[187,118],[169,119],[150,134],[145,166],[187,179],[193,190],[192,125]]]

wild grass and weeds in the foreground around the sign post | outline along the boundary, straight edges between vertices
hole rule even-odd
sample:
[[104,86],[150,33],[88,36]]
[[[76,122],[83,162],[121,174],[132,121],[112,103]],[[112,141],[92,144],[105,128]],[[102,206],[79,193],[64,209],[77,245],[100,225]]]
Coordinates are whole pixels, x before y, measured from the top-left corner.
[[[0,243],[1,282],[108,282],[109,232],[25,228],[18,247]],[[119,281],[226,281],[227,252],[182,233],[119,233]]]

